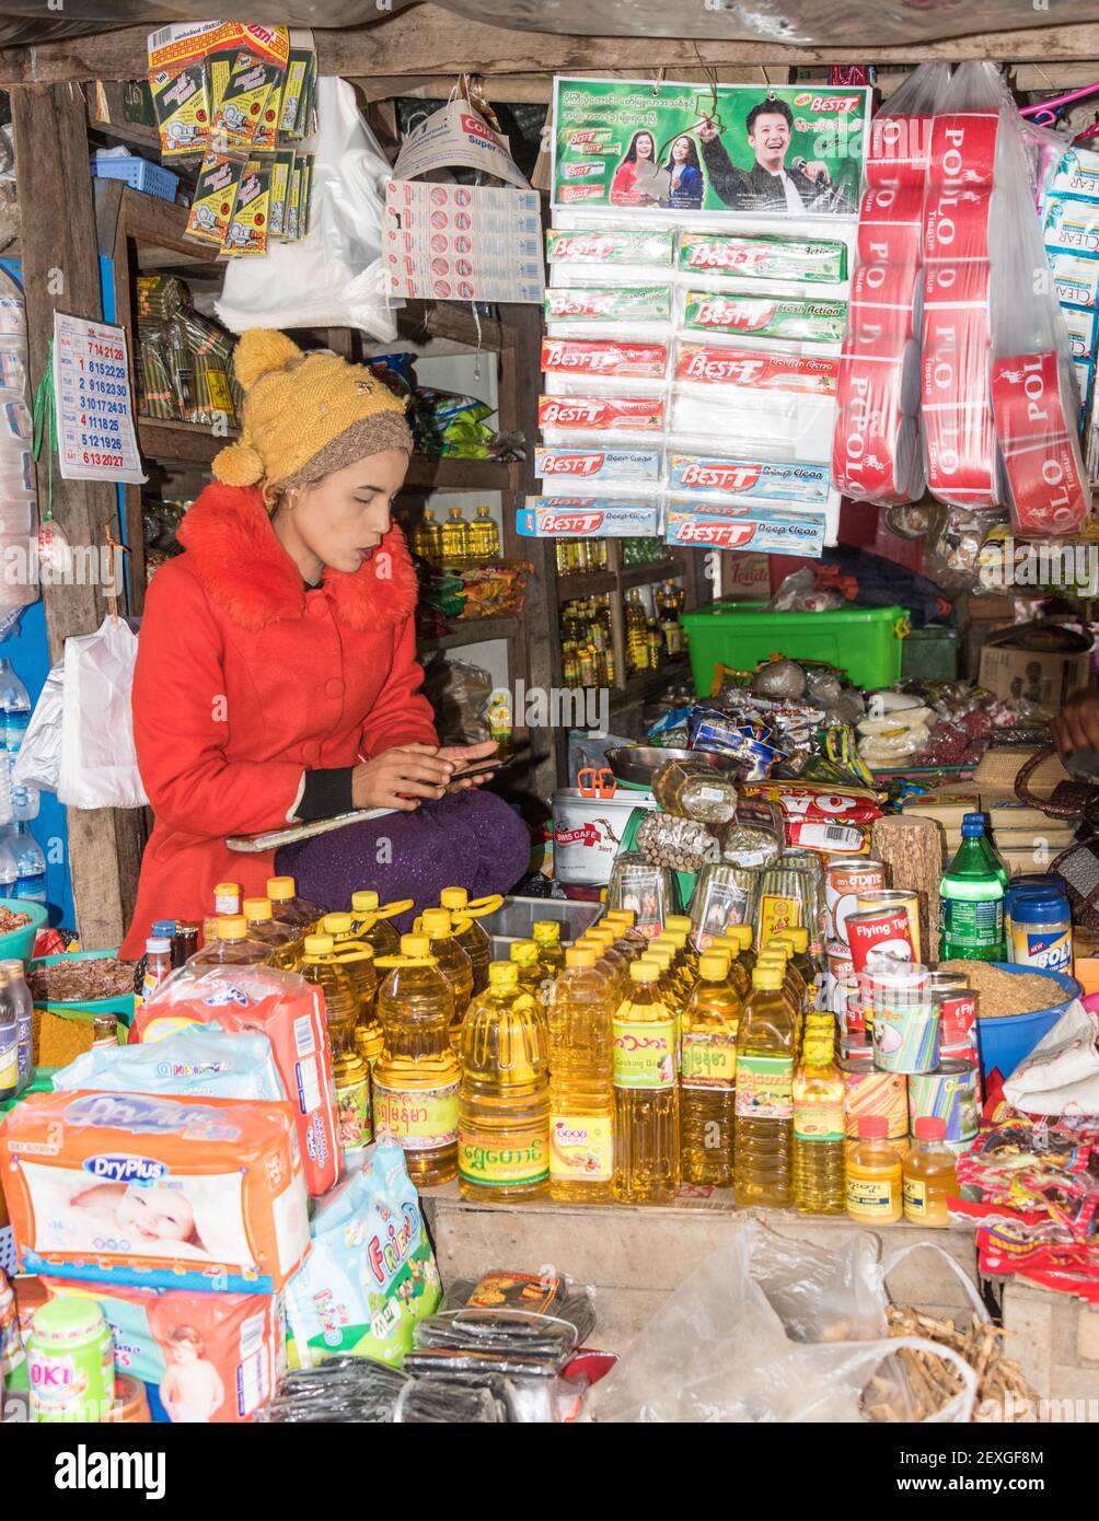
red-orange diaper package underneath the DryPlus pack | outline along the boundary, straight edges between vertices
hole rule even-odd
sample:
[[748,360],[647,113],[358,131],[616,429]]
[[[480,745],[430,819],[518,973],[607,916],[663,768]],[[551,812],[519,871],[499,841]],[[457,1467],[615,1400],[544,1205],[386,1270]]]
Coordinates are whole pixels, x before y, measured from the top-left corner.
[[114,1367],[148,1389],[154,1421],[251,1421],[272,1395],[286,1358],[276,1294],[196,1294],[172,1288],[26,1279],[41,1302],[94,1299],[114,1340]]

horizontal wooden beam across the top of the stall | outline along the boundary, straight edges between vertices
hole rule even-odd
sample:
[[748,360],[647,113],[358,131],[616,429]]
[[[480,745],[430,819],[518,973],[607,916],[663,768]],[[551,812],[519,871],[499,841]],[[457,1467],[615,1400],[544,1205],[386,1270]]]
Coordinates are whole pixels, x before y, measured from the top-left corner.
[[[1041,17],[1044,12],[1035,12]],[[718,30],[720,12],[697,11],[699,26]],[[962,23],[965,24],[965,23]],[[148,26],[122,27],[90,37],[67,37],[37,47],[0,49],[0,85],[29,81],[137,79],[146,68]],[[781,47],[776,43],[735,43],[722,37],[572,37],[489,26],[435,5],[413,6],[367,27],[314,30],[323,75],[346,79],[371,76],[470,73],[623,73],[648,78],[667,68],[671,79],[702,78],[706,68],[763,64],[805,67],[851,62],[851,47]],[[935,43],[884,47],[869,35],[860,61],[910,64],[924,59],[985,59],[1003,62],[1079,62],[1099,58],[1099,23],[1038,24],[1017,30],[973,32]]]

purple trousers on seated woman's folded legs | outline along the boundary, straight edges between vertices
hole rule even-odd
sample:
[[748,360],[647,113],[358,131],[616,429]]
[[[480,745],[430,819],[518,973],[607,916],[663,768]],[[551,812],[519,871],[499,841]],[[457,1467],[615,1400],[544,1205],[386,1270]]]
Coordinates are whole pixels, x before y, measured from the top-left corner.
[[[470,897],[508,893],[528,859],[519,815],[493,792],[470,789],[283,846],[276,870],[297,879],[300,897],[333,913],[349,910],[359,888],[373,888],[382,903],[411,897],[419,913],[434,908],[444,887],[464,887]],[[406,934],[413,917],[393,923]]]

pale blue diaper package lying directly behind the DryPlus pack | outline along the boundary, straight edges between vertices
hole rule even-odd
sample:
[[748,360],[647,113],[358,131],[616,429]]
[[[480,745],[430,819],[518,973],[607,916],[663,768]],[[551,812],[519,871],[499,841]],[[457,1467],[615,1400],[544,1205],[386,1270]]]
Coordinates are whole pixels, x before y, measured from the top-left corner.
[[274,1104],[286,1100],[266,1036],[231,1036],[209,1025],[192,1025],[155,1045],[93,1046],[53,1074],[53,1088]]

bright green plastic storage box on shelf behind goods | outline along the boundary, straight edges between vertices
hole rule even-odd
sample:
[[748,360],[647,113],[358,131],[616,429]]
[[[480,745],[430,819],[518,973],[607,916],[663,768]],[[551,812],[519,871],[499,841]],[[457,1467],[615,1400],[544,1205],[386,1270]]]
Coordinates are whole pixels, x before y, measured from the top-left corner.
[[680,613],[691,656],[691,675],[708,697],[714,666],[753,671],[773,654],[792,660],[827,660],[852,686],[874,691],[901,675],[901,640],[909,631],[904,607],[840,607],[833,613],[769,613],[766,602],[711,602]]

